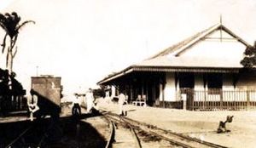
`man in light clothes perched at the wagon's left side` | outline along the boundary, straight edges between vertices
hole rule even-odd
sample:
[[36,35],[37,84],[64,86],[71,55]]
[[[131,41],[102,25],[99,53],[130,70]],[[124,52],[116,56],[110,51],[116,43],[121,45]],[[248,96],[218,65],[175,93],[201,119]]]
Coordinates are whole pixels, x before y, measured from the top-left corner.
[[27,106],[30,111],[30,120],[33,121],[33,113],[39,110],[38,96],[36,94],[31,94],[27,97]]

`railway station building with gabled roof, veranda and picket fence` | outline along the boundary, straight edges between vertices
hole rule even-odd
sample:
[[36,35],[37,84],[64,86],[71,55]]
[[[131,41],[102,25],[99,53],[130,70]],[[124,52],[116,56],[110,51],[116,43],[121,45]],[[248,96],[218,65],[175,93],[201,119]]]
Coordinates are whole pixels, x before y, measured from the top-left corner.
[[256,71],[241,65],[251,46],[223,24],[174,44],[99,85],[124,90],[129,102],[187,110],[256,108]]

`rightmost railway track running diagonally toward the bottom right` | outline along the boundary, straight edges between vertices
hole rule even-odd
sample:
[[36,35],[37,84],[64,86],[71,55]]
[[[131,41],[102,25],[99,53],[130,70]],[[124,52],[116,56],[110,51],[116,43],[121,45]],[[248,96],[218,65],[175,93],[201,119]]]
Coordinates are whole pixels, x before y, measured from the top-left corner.
[[147,133],[148,135],[151,135],[151,136],[154,135],[159,139],[164,139],[168,141],[172,146],[185,147],[185,148],[192,148],[192,147],[225,148],[225,146],[223,145],[216,145],[201,139],[195,139],[183,134],[177,134],[172,131],[168,131],[162,128],[157,128],[156,126],[150,125],[148,123],[138,122],[127,117],[119,117],[119,115],[117,114],[106,113],[105,116],[116,118],[116,119],[119,118],[120,122],[125,122],[126,124],[129,124],[132,127],[136,128],[138,131],[143,131],[143,133]]

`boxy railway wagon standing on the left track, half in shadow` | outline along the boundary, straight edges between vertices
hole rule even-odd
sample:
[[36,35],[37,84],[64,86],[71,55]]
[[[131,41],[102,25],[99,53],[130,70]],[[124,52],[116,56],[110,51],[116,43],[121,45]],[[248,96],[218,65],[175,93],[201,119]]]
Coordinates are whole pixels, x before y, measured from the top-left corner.
[[61,111],[61,77],[32,77],[31,93],[38,95],[37,117],[59,117]]

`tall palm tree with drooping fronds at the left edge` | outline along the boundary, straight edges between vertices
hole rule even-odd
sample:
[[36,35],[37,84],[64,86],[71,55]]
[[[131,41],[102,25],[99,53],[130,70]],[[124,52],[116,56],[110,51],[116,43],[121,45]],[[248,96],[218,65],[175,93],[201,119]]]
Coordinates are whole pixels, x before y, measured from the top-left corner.
[[[33,20],[26,20],[20,24],[20,16],[17,13],[13,12],[11,14],[0,14],[0,26],[5,31],[5,36],[3,37],[3,43],[1,44],[2,53],[7,48],[6,55],[6,68],[9,70],[9,74],[13,71],[13,60],[17,53],[17,46],[15,46],[19,31],[21,27],[25,26],[27,23],[35,24]],[[7,37],[9,37],[9,46],[7,44]]]

